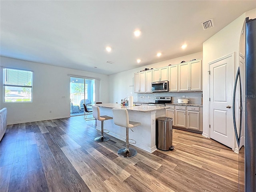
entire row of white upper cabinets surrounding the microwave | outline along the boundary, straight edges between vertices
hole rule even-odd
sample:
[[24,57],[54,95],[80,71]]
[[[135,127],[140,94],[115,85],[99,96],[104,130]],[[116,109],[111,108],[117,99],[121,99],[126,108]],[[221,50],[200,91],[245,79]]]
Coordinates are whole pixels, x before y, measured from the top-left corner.
[[176,65],[170,65],[154,70],[146,70],[134,74],[134,92],[149,93],[151,83],[169,82],[169,92],[201,91],[202,90],[202,60],[194,60]]

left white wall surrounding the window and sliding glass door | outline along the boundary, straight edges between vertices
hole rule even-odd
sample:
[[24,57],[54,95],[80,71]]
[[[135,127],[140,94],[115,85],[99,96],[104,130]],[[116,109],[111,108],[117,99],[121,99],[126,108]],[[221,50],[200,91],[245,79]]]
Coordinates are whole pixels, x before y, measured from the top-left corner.
[[[100,78],[100,101],[107,103],[108,76],[92,72],[73,70],[0,57],[4,67],[32,70],[32,103],[3,103],[3,70],[0,72],[0,108],[7,108],[7,123],[33,122],[70,116],[70,76],[68,74]],[[62,98],[64,96],[65,98]],[[49,111],[52,110],[52,113]]]

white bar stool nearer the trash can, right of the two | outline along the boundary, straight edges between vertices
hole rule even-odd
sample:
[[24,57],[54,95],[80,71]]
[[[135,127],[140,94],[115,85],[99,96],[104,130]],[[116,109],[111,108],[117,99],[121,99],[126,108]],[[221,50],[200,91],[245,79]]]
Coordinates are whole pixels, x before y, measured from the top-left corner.
[[[123,158],[131,158],[137,155],[134,148],[129,148],[129,128],[139,126],[139,122],[129,121],[128,111],[126,109],[112,109],[114,124],[126,128],[126,147],[118,150],[118,155]],[[132,130],[132,129],[131,129]],[[130,139],[133,140],[133,139]],[[135,144],[136,141],[133,140]]]

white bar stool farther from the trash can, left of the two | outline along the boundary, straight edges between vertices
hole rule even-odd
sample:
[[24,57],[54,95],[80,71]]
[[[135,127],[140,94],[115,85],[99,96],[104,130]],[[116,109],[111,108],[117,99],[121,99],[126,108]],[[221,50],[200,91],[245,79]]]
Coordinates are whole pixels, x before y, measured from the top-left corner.
[[100,108],[98,106],[92,106],[92,116],[95,119],[101,121],[101,136],[96,137],[94,139],[94,141],[96,141],[96,142],[106,142],[106,141],[110,140],[110,138],[108,136],[103,135],[103,131],[104,131],[103,123],[104,123],[104,120],[109,120],[109,119],[113,119],[113,118],[109,117],[109,116],[106,116],[106,115],[105,116],[100,116]]

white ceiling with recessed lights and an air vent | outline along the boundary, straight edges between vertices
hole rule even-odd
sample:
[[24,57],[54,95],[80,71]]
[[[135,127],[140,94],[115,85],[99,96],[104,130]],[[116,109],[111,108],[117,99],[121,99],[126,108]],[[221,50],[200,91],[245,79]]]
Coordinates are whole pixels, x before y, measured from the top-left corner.
[[[114,74],[200,52],[204,41],[253,8],[255,0],[1,0],[0,54]],[[210,18],[214,28],[203,30],[201,22]],[[142,31],[138,38],[137,28]],[[184,43],[188,46],[182,50]]]

